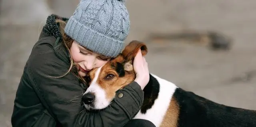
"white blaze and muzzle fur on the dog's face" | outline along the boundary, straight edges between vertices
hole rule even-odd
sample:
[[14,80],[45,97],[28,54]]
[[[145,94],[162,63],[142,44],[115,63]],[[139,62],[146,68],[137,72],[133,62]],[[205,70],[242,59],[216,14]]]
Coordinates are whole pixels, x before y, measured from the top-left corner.
[[100,75],[101,68],[102,68],[102,66],[96,70],[94,79],[92,79],[90,86],[84,93],[84,94],[86,94],[86,93],[92,92],[95,95],[94,107],[90,107],[89,105],[84,105],[86,107],[86,109],[91,109],[91,108],[92,109],[104,109],[105,107],[107,107],[110,104],[110,102],[106,98],[106,92],[97,83],[97,79]]

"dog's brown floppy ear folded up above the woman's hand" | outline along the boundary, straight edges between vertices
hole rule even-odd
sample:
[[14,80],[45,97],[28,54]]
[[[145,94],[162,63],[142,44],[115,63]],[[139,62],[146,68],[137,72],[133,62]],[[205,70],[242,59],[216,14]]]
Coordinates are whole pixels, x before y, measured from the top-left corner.
[[145,56],[148,53],[148,48],[146,44],[134,40],[124,48],[122,55],[124,56],[125,60],[130,61],[135,58],[139,50],[141,50],[142,56]]

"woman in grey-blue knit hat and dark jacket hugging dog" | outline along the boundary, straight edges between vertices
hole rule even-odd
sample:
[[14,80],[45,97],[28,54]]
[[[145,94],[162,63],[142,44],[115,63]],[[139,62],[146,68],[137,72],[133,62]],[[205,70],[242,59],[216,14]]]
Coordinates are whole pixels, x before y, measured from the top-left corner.
[[83,77],[122,51],[129,27],[128,12],[119,0],[81,0],[70,19],[49,16],[24,67],[12,126],[154,126],[146,120],[130,121],[142,105],[142,89],[149,81],[141,52],[134,59],[136,79],[124,87],[122,98],[98,112],[86,112],[80,103],[86,89]]

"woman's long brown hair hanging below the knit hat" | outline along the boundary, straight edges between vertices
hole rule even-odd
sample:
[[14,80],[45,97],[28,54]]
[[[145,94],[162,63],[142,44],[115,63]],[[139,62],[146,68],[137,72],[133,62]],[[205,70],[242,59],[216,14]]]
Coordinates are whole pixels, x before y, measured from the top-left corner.
[[64,77],[65,75],[67,75],[70,71],[72,71],[72,73],[78,77],[78,79],[80,79],[82,82],[86,83],[85,79],[83,77],[81,77],[77,72],[74,72],[74,70],[76,70],[76,66],[73,62],[73,58],[72,58],[72,55],[71,55],[71,52],[70,52],[70,48],[72,46],[72,43],[73,43],[73,39],[66,35],[66,33],[64,32],[64,28],[66,26],[66,22],[63,21],[63,20],[60,20],[60,19],[56,19],[56,23],[59,24],[59,29],[60,29],[60,33],[62,34],[62,44],[66,47],[66,49],[68,50],[69,54],[70,54],[70,67],[68,69],[68,71],[62,75],[62,76],[59,76],[57,78],[60,78],[60,77]]

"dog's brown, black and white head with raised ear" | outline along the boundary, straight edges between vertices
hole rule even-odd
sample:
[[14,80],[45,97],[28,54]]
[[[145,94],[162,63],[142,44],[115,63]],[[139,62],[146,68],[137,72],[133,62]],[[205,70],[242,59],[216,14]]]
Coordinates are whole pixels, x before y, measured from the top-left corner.
[[135,79],[133,60],[141,49],[142,56],[147,47],[139,41],[130,42],[113,60],[86,75],[89,87],[82,97],[86,109],[104,109],[110,105],[118,89],[122,89]]

